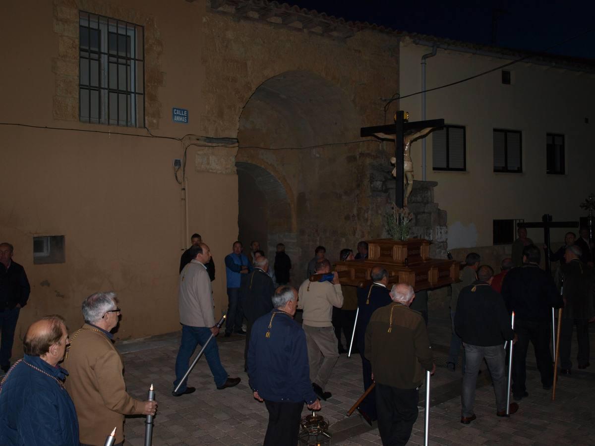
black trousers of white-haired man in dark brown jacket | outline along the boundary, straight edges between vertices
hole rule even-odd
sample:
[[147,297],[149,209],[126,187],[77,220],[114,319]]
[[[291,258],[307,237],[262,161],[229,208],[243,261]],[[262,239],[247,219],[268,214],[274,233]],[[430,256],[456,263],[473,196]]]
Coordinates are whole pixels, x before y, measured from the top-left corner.
[[419,391],[376,383],[378,432],[384,446],[405,446],[417,420]]

